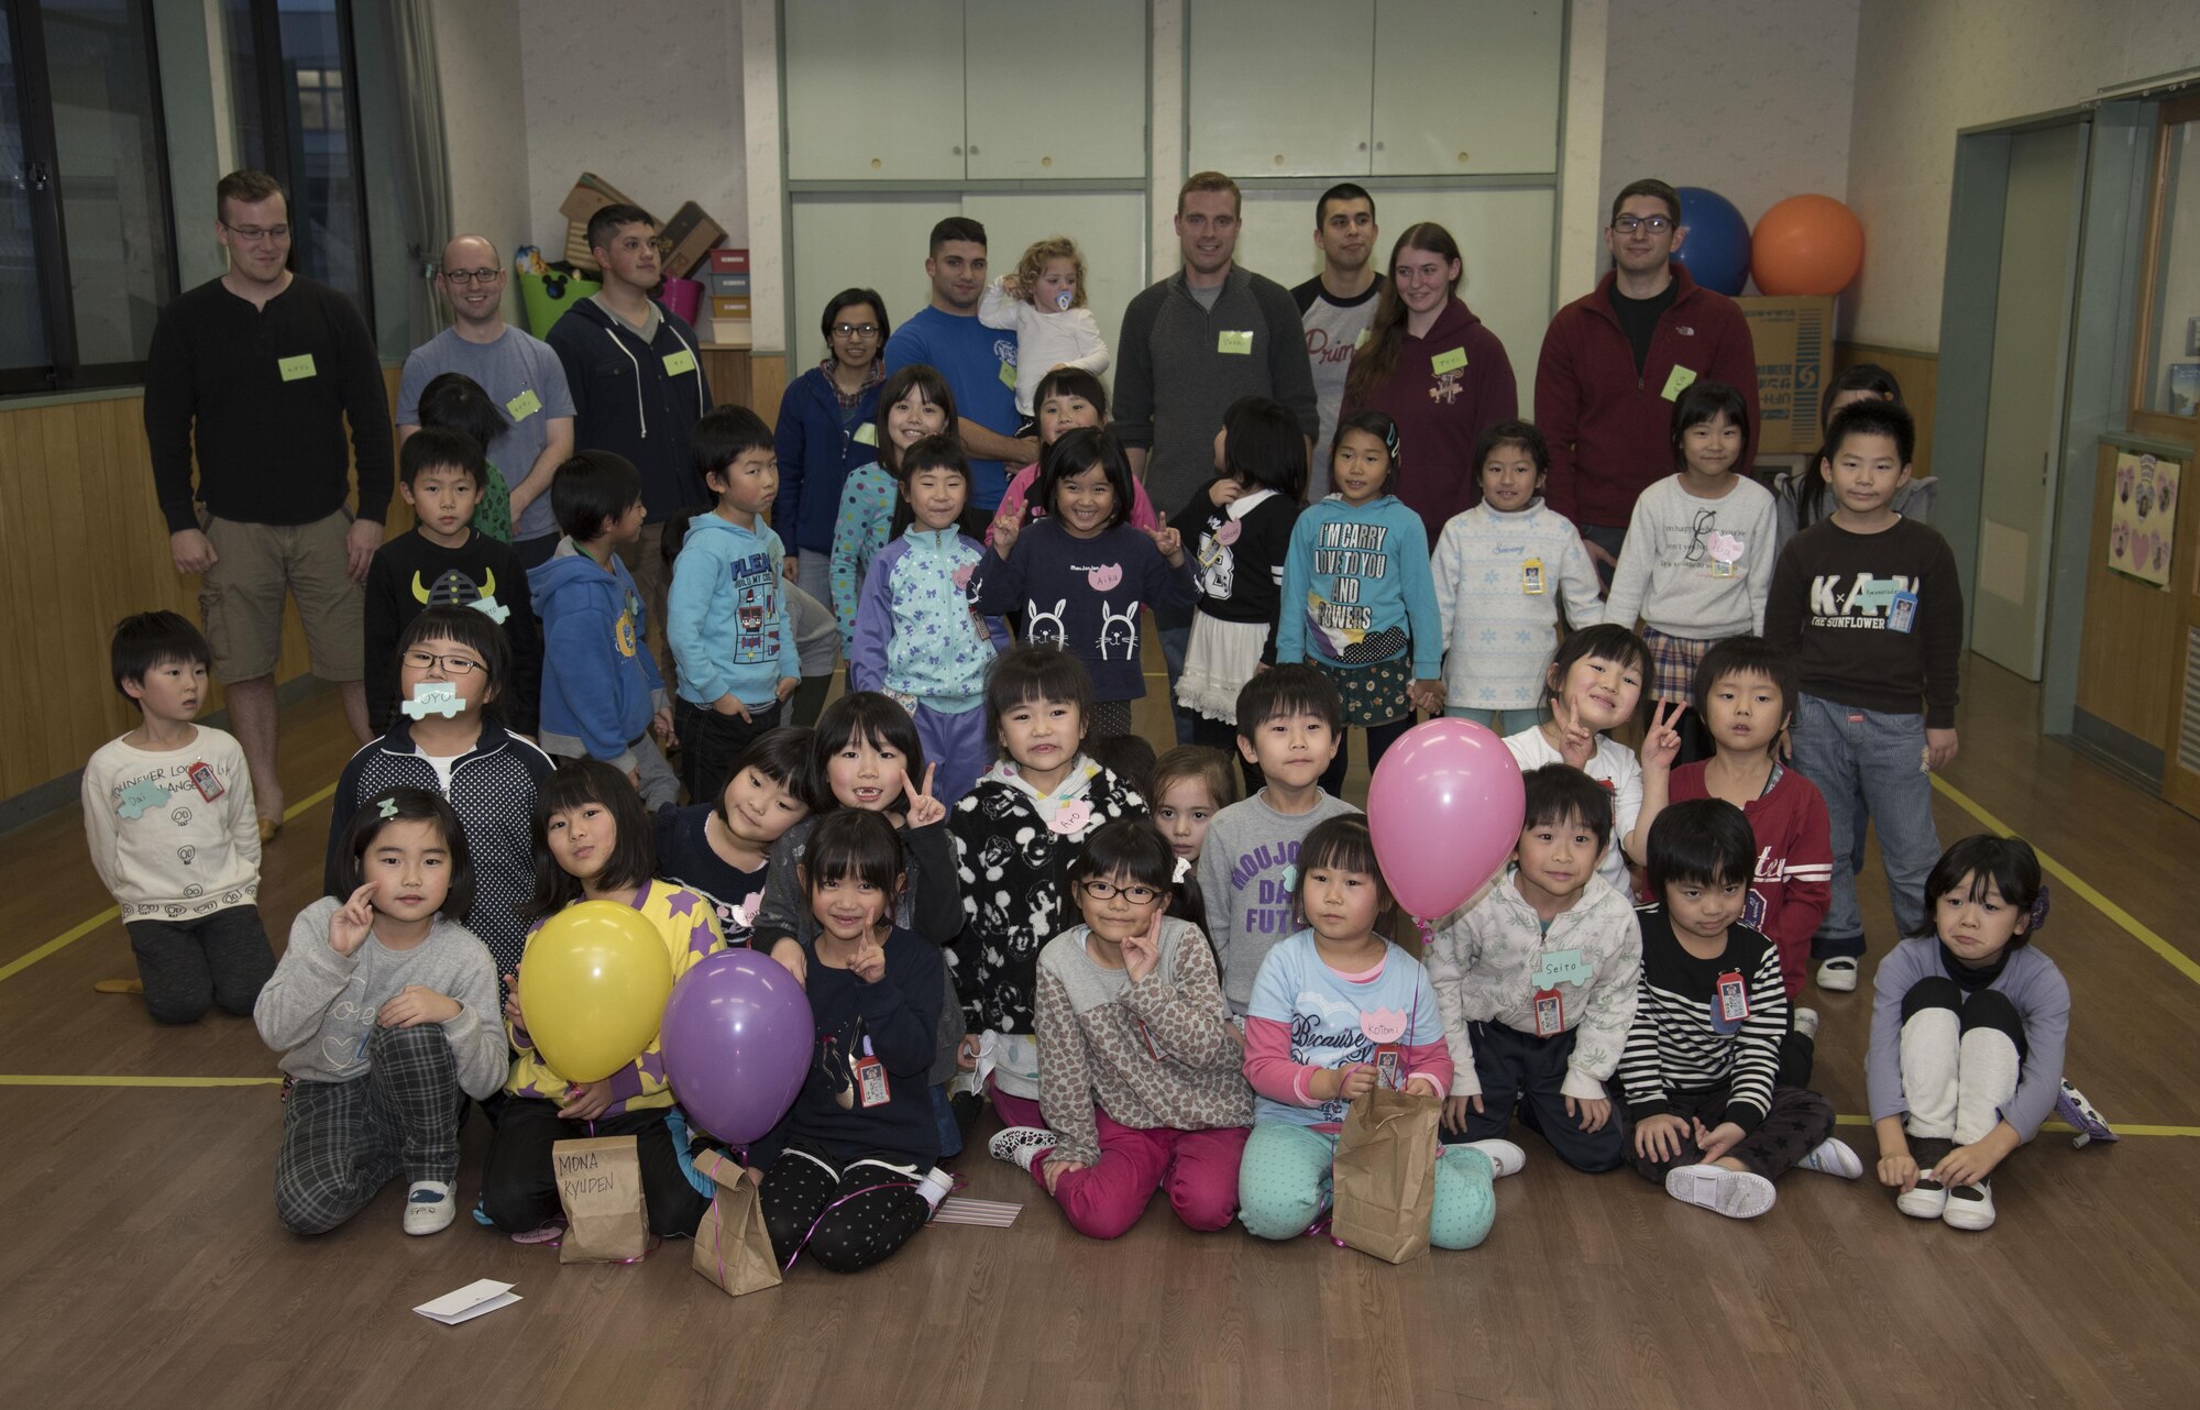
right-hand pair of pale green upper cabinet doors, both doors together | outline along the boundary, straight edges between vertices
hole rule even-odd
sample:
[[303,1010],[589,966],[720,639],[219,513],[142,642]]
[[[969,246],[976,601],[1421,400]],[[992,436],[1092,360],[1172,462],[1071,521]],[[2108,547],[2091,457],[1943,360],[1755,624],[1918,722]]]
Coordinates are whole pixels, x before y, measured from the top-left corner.
[[1186,0],[1192,172],[1558,172],[1564,0]]

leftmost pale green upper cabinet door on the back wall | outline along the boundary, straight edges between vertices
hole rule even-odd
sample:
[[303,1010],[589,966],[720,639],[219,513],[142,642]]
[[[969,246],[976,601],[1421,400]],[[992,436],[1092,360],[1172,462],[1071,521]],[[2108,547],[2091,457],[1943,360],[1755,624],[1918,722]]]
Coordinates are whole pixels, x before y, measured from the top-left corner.
[[961,180],[961,0],[788,4],[788,176]]

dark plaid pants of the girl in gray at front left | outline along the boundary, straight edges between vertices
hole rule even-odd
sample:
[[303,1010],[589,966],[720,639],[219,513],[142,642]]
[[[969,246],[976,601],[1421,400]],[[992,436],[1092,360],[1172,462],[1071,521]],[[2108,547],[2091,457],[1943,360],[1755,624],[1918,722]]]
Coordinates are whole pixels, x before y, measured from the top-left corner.
[[295,1082],[275,1157],[275,1214],[293,1234],[326,1234],[398,1175],[458,1179],[466,1093],[436,1023],[367,1034],[367,1076]]

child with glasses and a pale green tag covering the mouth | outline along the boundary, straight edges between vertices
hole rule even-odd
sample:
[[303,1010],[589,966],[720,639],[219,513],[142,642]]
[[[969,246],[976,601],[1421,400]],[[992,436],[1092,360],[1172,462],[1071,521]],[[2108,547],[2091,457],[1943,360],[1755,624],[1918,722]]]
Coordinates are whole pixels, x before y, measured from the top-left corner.
[[367,798],[420,787],[449,798],[473,853],[473,908],[462,917],[497,974],[519,968],[524,915],[535,893],[535,790],[554,772],[550,754],[504,728],[513,656],[504,629],[475,607],[429,607],[398,638],[398,710],[389,728],[343,765],[330,807],[323,893],[348,897],[352,856],[343,834]]

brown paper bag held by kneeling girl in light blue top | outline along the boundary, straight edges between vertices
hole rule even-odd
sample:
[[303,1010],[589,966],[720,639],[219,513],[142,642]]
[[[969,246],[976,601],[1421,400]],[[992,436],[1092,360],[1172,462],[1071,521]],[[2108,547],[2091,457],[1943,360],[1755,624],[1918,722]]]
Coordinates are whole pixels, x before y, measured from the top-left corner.
[[1377,1087],[1344,1109],[1329,1234],[1384,1263],[1428,1252],[1443,1102]]

